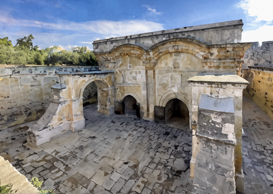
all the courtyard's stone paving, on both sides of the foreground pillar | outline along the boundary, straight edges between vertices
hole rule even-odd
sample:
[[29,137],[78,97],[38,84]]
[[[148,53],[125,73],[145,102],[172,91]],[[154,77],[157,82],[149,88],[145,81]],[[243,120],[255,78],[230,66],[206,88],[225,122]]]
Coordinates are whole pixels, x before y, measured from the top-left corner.
[[[250,100],[243,102],[245,193],[270,193],[273,121]],[[27,178],[37,176],[45,180],[44,188],[59,193],[130,193],[141,178],[147,179],[142,193],[191,193],[190,132],[124,115],[103,115],[95,105],[85,107],[84,115],[86,129],[67,132],[38,148],[22,145],[25,131],[5,129],[0,132],[0,155]],[[182,159],[187,169],[176,172],[176,162]],[[92,181],[100,171],[101,186]]]

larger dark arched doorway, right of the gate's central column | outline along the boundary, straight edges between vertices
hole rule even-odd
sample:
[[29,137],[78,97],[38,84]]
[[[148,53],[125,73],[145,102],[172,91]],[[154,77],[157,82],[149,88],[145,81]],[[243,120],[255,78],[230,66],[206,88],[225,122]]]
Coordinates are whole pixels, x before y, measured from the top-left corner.
[[165,124],[170,127],[187,130],[189,127],[189,110],[186,104],[179,99],[169,100],[165,106],[164,120]]

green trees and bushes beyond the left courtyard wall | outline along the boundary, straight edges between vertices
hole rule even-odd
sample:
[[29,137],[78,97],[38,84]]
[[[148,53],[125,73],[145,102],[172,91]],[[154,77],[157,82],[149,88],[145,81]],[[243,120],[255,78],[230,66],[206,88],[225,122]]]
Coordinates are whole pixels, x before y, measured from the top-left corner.
[[17,39],[15,46],[8,37],[0,38],[0,64],[8,65],[71,65],[97,66],[97,60],[87,47],[73,47],[72,51],[53,46],[40,50],[33,46],[32,34]]

